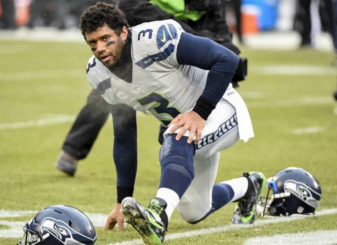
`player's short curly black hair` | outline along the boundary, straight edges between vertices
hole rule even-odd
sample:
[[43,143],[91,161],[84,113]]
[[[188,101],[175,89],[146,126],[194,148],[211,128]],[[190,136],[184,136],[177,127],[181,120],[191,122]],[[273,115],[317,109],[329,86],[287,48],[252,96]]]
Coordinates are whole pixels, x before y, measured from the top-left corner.
[[105,24],[114,30],[118,36],[121,34],[123,26],[128,27],[122,10],[105,2],[98,2],[89,7],[80,17],[80,30],[84,39],[86,39],[86,33],[91,33]]

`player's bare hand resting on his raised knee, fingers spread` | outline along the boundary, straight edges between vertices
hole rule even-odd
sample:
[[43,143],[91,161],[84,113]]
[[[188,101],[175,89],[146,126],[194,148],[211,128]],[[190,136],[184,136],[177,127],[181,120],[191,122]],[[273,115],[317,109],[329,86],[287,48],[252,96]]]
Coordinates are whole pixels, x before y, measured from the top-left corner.
[[[173,125],[174,124],[174,125]],[[184,135],[184,133],[189,130],[190,134],[187,139],[187,143],[190,144],[193,141],[193,138],[196,136],[194,140],[194,144],[197,144],[201,138],[201,132],[205,127],[206,121],[199,116],[195,111],[189,111],[186,113],[182,113],[177,115],[168,126],[173,125],[170,134],[173,134],[175,130],[181,127],[175,139],[178,141]]]

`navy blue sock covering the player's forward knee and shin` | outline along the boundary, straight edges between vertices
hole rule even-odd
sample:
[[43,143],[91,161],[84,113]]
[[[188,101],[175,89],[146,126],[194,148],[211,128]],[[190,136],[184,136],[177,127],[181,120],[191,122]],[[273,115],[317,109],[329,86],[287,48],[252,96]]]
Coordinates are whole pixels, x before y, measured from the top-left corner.
[[187,144],[188,137],[175,140],[176,134],[168,134],[160,150],[162,167],[159,188],[173,190],[179,198],[185,193],[194,178],[194,144]]

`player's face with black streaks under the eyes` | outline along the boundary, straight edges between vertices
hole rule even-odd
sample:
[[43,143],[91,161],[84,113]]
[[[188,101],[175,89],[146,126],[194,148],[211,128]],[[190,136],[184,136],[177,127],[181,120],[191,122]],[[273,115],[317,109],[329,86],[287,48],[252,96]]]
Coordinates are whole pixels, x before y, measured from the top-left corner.
[[93,32],[86,33],[85,37],[95,57],[110,68],[120,59],[127,38],[127,28],[124,26],[121,34],[117,36],[106,24]]

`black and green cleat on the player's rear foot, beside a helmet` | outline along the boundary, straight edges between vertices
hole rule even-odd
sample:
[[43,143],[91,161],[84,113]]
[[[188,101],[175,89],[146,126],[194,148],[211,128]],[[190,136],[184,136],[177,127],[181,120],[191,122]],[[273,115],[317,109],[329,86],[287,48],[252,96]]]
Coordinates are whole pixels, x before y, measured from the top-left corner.
[[232,223],[252,224],[256,217],[256,203],[266,186],[266,178],[261,172],[243,173],[248,180],[247,192],[236,200]]

